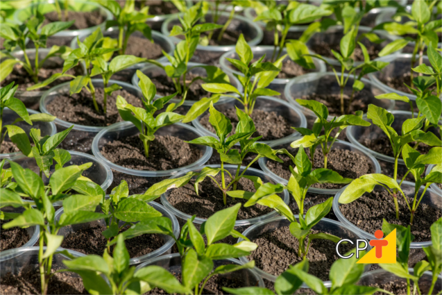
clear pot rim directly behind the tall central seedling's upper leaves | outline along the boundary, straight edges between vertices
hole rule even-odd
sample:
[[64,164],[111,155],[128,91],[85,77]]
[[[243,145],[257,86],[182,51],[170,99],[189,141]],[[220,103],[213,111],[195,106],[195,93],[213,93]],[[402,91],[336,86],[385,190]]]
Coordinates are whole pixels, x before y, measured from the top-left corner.
[[[264,54],[266,55],[266,57],[271,57],[272,54],[273,54],[273,48],[274,48],[273,46],[253,47],[252,48],[253,57],[254,58],[261,58],[262,56],[264,56]],[[284,55],[284,54],[287,54],[287,50],[286,49],[284,49],[282,51],[282,55]],[[244,76],[244,74],[242,74],[241,71],[238,71],[238,69],[236,67],[232,66],[232,64],[227,60],[227,58],[233,58],[233,59],[239,60],[239,56],[236,53],[235,49],[224,53],[221,56],[221,58],[219,58],[219,64],[221,65],[221,69],[223,69],[223,71],[225,73],[237,74],[237,75],[240,75],[240,76]],[[289,56],[287,56],[284,59],[284,62],[286,62],[289,59],[290,59]],[[313,62],[314,62],[314,65],[316,67],[316,69],[314,69],[315,72],[323,73],[323,72],[327,71],[327,68],[325,67],[325,62],[323,62],[322,60],[314,58]],[[271,90],[275,90],[277,92],[280,92],[281,98],[284,99],[284,88],[285,88],[285,85],[287,85],[287,83],[289,83],[289,81],[291,79],[293,79],[293,78],[275,78],[270,83],[268,88],[270,88]]]

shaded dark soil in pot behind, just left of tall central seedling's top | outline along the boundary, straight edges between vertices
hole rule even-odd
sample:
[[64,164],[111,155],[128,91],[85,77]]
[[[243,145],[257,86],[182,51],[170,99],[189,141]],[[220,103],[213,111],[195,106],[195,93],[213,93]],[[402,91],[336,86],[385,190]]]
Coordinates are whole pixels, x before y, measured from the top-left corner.
[[[186,83],[190,83],[193,78],[195,78],[196,74],[187,74],[186,76]],[[151,77],[151,81],[153,84],[155,84],[155,87],[157,88],[157,94],[160,96],[167,96],[174,94],[176,92],[175,85],[173,84],[172,78],[168,76],[155,76]],[[182,83],[182,81],[181,81]],[[209,97],[211,94],[205,90],[203,90],[204,82],[202,80],[195,81],[190,85],[189,91],[187,92],[186,100],[187,101],[199,101],[200,99],[203,99],[204,97]],[[176,99],[182,99],[181,95],[175,96]]]

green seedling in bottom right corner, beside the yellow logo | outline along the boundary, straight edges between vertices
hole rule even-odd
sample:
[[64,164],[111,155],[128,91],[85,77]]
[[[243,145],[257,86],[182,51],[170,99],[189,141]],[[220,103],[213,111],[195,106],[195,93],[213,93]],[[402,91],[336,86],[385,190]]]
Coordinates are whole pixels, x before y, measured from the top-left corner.
[[[431,237],[432,245],[423,248],[423,251],[427,255],[427,260],[421,260],[414,266],[414,273],[411,274],[408,271],[408,260],[410,243],[414,239],[414,235],[411,235],[411,228],[407,226],[399,226],[397,224],[389,224],[385,219],[382,223],[382,231],[385,235],[388,235],[396,228],[396,244],[398,245],[398,257],[396,258],[396,264],[379,264],[382,269],[393,273],[399,278],[407,279],[407,294],[416,295],[421,294],[419,288],[419,279],[423,276],[425,271],[432,271],[432,283],[428,291],[428,294],[433,294],[434,285],[438,280],[439,273],[442,271],[442,219],[438,219],[432,226]],[[413,281],[413,291],[411,292],[411,281]],[[416,292],[417,291],[417,292]]]

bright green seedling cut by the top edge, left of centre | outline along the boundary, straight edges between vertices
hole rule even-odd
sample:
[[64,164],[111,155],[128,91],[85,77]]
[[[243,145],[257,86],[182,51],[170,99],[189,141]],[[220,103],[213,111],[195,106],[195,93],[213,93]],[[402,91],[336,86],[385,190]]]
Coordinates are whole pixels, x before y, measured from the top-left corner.
[[117,47],[119,48],[120,55],[126,53],[129,37],[136,31],[141,32],[144,37],[153,42],[151,27],[146,24],[146,20],[153,17],[153,15],[148,15],[148,6],[137,11],[135,10],[135,0],[126,1],[124,3],[124,8],[121,8],[119,3],[115,0],[95,1],[101,6],[107,8],[114,16],[114,20],[106,22],[106,28],[118,26],[119,34]]

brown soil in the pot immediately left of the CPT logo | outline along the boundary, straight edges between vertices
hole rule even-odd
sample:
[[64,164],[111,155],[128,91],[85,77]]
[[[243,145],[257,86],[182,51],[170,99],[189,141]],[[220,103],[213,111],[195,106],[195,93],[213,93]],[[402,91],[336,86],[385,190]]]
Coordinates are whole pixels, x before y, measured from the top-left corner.
[[[312,230],[312,233],[322,233]],[[289,226],[282,226],[275,230],[263,233],[250,242],[258,248],[247,256],[248,260],[255,260],[258,269],[279,276],[289,265],[294,265],[303,259],[298,257],[299,242],[291,235]],[[330,267],[339,259],[336,253],[336,244],[325,239],[312,240],[307,253],[309,260],[309,273],[321,280],[328,280]],[[341,253],[346,253],[352,248],[351,244],[340,245]]]

